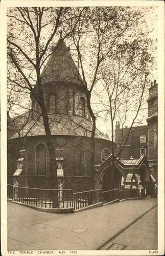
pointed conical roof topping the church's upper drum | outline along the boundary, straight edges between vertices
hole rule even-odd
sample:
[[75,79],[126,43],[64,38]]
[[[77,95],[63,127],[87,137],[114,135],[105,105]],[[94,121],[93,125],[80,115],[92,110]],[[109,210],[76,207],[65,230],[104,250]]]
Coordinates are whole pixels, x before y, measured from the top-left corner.
[[42,71],[42,83],[69,82],[83,86],[83,80],[69,50],[70,48],[66,47],[63,38],[60,37]]

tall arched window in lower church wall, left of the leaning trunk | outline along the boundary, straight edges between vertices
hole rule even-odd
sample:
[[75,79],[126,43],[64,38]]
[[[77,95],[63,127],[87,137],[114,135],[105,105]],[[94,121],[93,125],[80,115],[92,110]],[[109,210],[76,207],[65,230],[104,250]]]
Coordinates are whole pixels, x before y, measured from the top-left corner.
[[43,144],[36,147],[36,175],[46,175],[46,148]]

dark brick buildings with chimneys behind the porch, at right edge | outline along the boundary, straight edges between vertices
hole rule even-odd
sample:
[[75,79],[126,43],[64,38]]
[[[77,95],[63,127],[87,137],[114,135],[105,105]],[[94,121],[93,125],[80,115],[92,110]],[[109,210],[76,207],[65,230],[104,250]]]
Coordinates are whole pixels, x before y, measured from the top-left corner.
[[120,128],[119,121],[115,126],[115,143],[116,150],[120,148],[121,143],[127,140],[121,157],[123,159],[139,159],[140,156],[145,156],[150,166],[150,171],[157,181],[157,114],[158,114],[158,97],[157,97],[156,80],[151,82],[148,97],[148,125],[140,125],[132,127],[130,133],[129,127]]

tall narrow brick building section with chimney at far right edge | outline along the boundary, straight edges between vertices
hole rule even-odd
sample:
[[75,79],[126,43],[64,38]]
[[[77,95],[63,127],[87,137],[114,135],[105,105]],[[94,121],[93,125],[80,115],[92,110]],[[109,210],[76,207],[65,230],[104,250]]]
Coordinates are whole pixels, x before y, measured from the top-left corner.
[[157,115],[158,115],[158,84],[156,80],[151,82],[148,98],[148,162],[151,166],[151,174],[157,181]]

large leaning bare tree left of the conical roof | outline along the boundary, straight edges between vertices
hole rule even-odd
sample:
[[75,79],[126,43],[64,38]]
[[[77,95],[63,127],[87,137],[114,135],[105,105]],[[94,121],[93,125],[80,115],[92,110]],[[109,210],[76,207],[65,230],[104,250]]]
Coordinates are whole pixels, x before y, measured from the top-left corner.
[[[8,73],[8,81],[14,84],[19,92],[20,90],[24,93],[30,92],[40,107],[51,161],[52,187],[55,189],[57,189],[56,158],[42,92],[41,70],[52,53],[54,37],[59,34],[61,25],[66,24],[68,19],[66,12],[67,8],[63,7],[18,7],[9,9],[7,14],[7,55],[13,69],[12,74]],[[69,18],[73,19],[73,16]],[[76,16],[75,25],[78,19],[79,17]],[[63,38],[71,32],[72,30],[68,28]],[[37,90],[34,90],[34,87]],[[58,200],[54,202],[54,207],[57,206]]]

